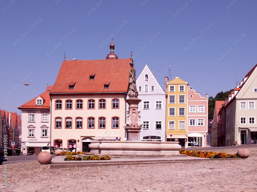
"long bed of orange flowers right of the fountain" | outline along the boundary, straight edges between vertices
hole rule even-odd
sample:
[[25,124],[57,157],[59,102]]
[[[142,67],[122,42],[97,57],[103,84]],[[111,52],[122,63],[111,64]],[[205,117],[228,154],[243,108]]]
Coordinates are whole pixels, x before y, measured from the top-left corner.
[[228,154],[225,152],[218,153],[218,152],[212,152],[212,151],[188,151],[185,149],[179,150],[180,154],[192,156],[192,157],[203,157],[203,158],[211,158],[211,159],[217,159],[217,158],[238,158],[237,153],[235,154]]

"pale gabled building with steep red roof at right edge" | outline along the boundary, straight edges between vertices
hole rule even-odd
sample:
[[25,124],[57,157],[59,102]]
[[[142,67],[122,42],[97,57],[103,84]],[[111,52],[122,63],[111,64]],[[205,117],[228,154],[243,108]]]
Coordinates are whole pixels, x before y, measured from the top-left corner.
[[257,64],[234,88],[225,104],[226,146],[257,142]]

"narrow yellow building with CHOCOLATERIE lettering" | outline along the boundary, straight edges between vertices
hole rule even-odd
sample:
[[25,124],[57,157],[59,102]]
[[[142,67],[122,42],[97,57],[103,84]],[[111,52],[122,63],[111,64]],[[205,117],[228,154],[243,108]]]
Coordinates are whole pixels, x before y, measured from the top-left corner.
[[165,77],[166,141],[177,138],[181,146],[185,146],[187,138],[187,85],[188,82],[179,77],[169,82]]

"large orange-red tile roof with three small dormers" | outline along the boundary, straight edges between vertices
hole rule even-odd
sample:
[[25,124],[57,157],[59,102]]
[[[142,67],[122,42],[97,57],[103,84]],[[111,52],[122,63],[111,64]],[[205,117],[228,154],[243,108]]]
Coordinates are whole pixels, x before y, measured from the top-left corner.
[[[130,58],[64,61],[50,93],[125,93],[130,61]],[[94,75],[95,79],[89,80]],[[109,82],[109,88],[104,89]],[[69,89],[74,84],[74,89]]]

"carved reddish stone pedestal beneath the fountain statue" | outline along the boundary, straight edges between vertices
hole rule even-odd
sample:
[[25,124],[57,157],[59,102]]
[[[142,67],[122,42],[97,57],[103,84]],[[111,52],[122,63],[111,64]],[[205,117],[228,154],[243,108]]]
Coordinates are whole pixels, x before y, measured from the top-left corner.
[[142,127],[137,126],[138,104],[140,101],[142,100],[137,97],[130,97],[126,100],[132,121],[132,126],[126,128],[128,141],[140,141],[140,131]]

